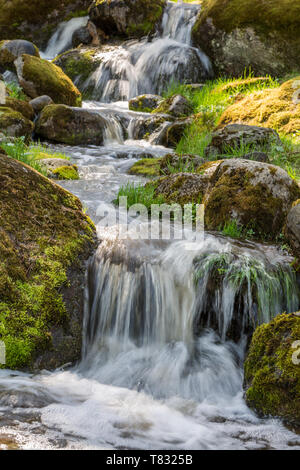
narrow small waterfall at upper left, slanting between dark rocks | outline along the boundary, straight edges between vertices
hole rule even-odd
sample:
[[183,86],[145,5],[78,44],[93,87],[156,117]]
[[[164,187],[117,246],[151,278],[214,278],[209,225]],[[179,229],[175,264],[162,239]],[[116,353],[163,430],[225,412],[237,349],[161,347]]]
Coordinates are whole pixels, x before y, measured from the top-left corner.
[[72,36],[77,29],[87,25],[89,17],[72,18],[60,23],[58,29],[50,38],[46,50],[41,54],[45,59],[54,59],[72,47]]

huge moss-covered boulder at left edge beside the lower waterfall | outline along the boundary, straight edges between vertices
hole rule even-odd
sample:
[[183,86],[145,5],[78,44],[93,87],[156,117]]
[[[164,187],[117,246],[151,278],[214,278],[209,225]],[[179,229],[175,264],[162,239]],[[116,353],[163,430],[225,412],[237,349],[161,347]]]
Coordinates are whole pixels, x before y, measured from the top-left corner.
[[94,226],[80,201],[0,155],[0,339],[12,369],[80,358],[85,261]]

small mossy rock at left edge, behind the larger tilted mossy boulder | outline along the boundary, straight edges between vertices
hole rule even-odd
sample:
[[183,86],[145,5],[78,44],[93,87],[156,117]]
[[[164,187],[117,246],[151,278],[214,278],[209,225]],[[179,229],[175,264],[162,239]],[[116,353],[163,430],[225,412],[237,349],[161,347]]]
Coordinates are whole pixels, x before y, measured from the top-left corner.
[[22,54],[40,57],[38,48],[32,42],[24,39],[0,42],[0,70],[10,70],[15,72],[14,61]]

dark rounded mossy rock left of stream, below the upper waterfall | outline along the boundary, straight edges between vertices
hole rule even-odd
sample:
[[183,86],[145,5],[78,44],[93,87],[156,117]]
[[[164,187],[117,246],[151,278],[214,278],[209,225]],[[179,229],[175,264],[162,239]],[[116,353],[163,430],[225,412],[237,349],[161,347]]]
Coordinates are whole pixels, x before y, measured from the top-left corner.
[[105,119],[96,111],[50,105],[39,115],[36,133],[69,145],[102,145],[105,126]]

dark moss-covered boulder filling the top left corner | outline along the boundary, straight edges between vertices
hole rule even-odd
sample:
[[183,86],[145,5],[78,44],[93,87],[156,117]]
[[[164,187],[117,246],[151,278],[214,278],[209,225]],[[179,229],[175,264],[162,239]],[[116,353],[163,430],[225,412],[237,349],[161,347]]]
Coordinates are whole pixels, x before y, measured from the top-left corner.
[[0,39],[27,39],[43,50],[62,21],[87,15],[90,0],[0,0]]

